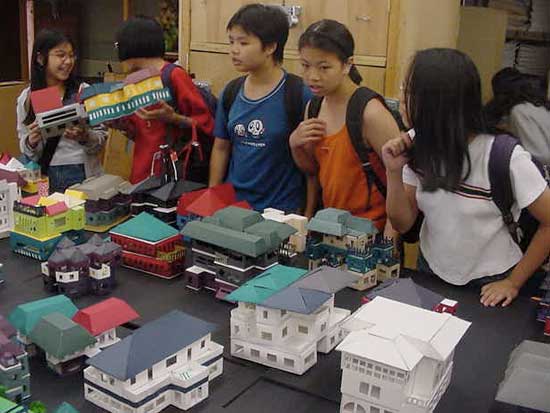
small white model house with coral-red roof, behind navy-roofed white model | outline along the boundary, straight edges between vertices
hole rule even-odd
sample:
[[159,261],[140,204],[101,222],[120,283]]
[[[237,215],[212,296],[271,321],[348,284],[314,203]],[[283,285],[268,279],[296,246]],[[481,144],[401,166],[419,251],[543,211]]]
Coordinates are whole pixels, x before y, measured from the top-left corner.
[[[105,301],[79,310],[73,321],[80,324],[95,339],[97,349],[89,349],[88,356],[94,356],[100,349],[112,346],[120,341],[117,328],[139,318],[139,314],[119,298],[108,298]],[[92,351],[90,351],[92,350]]]

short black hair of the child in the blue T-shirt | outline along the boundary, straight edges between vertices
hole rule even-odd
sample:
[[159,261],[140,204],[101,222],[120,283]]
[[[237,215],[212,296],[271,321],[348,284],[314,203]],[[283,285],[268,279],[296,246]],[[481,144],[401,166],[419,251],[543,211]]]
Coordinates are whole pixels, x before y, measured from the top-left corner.
[[227,30],[239,26],[246,33],[260,39],[262,47],[276,44],[273,53],[275,63],[282,63],[286,41],[288,40],[288,16],[279,6],[247,4],[241,7],[227,23]]

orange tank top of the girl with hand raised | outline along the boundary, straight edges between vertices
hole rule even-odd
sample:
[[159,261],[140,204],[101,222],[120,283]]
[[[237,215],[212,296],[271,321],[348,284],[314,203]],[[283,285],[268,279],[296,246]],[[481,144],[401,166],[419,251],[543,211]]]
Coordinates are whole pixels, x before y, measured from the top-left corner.
[[386,202],[374,183],[371,185],[369,200],[365,173],[347,127],[323,138],[315,147],[315,158],[319,164],[324,207],[345,209],[352,215],[368,218],[379,231],[383,231]]

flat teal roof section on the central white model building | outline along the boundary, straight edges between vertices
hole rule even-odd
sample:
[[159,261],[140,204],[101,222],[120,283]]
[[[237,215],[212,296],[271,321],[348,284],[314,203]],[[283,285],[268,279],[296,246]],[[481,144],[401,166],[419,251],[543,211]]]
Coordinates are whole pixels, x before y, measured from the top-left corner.
[[303,268],[275,265],[247,281],[227,297],[228,301],[261,304],[307,273]]

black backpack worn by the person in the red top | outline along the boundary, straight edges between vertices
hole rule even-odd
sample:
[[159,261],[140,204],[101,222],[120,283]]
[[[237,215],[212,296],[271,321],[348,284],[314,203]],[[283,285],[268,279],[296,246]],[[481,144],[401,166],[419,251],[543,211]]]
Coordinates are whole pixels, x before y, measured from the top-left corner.
[[[168,88],[172,94],[172,100],[168,103],[176,113],[180,113],[176,92],[172,85],[172,72],[176,69],[183,70],[181,66],[174,63],[166,65],[161,71],[161,80],[164,87]],[[210,114],[215,117],[218,99],[214,96],[208,84],[195,80],[193,80],[193,84],[206,103]],[[187,136],[184,136],[183,139],[178,139],[174,136],[174,133],[175,128],[167,126],[167,135],[171,135],[166,137],[167,141],[171,140],[167,143],[178,154],[176,165],[178,174],[184,179],[207,184],[214,137],[197,131],[194,126],[190,131],[187,131]]]

